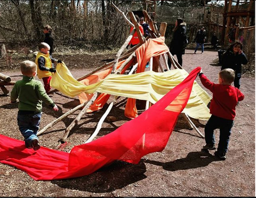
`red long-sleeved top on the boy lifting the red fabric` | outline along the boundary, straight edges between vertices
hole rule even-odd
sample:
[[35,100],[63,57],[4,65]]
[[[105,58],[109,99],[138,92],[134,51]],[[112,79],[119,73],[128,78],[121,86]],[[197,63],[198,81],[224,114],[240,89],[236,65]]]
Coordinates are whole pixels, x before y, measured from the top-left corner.
[[234,86],[214,84],[204,74],[200,75],[200,80],[203,86],[213,93],[210,113],[220,118],[234,120],[237,102],[244,100],[244,94]]

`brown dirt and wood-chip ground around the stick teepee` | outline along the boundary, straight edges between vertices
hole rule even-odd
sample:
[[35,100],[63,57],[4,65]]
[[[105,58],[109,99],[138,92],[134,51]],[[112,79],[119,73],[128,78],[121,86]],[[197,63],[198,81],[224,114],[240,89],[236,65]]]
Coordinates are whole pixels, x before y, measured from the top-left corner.
[[[209,79],[217,83],[220,66],[215,64],[217,51],[205,50],[204,54],[193,54],[186,50],[183,55],[183,68],[190,72],[202,67]],[[110,62],[115,54],[55,54],[55,58],[65,61],[75,78],[89,73],[105,62]],[[34,57],[29,56],[30,60]],[[0,60],[0,71],[12,80],[21,79],[20,71],[15,70],[17,63],[24,58],[13,59],[12,68],[6,69],[5,60]],[[198,79],[197,79],[198,81]],[[198,83],[202,85],[199,81]],[[6,86],[11,91],[12,86]],[[204,88],[205,89],[205,88]],[[0,164],[1,196],[255,196],[255,78],[243,75],[241,90],[245,95],[239,103],[234,127],[230,137],[226,161],[220,161],[214,151],[202,151],[204,139],[195,130],[189,130],[188,124],[180,118],[165,149],[160,153],[144,156],[139,164],[116,161],[91,175],[65,180],[39,181],[29,177],[24,171]],[[211,94],[208,90],[206,90]],[[4,96],[0,90],[0,133],[22,140],[17,126],[17,104],[10,104],[10,96]],[[78,98],[70,98],[60,93],[52,94],[53,101],[59,106],[54,112],[44,106],[41,129],[49,122],[60,117],[79,104]],[[124,117],[125,98],[114,105],[110,116],[117,121],[105,121],[97,138],[102,137],[121,126],[129,119]],[[84,143],[106,111],[85,114],[68,137],[63,151],[69,152],[75,145]],[[42,146],[58,149],[65,129],[78,112],[63,119],[39,136]],[[204,134],[205,121],[192,119]],[[218,136],[219,131],[215,134]]]

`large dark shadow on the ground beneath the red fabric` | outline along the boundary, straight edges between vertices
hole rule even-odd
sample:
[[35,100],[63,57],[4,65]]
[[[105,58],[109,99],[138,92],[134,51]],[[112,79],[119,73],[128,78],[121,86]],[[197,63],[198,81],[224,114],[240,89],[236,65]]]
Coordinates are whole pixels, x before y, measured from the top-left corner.
[[54,180],[52,183],[61,188],[93,193],[106,193],[145,179],[145,172],[146,166],[142,161],[140,161],[139,164],[115,161],[110,164],[110,166],[103,167],[88,176]]

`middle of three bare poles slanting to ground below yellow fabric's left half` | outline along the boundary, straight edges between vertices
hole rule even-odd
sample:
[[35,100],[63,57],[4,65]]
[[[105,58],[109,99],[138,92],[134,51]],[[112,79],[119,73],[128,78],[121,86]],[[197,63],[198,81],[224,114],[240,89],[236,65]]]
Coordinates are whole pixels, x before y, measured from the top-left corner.
[[66,129],[65,134],[63,135],[62,139],[60,140],[61,142],[67,141],[68,134],[69,134],[70,130],[73,129],[73,127],[76,125],[76,123],[78,123],[78,121],[81,119],[81,117],[86,112],[86,110],[90,108],[92,103],[97,98],[97,95],[98,95],[98,93],[95,92],[94,95],[92,96],[91,100],[87,102],[87,104],[84,106],[83,110],[78,114],[78,116],[73,120],[73,122],[71,122],[71,124]]

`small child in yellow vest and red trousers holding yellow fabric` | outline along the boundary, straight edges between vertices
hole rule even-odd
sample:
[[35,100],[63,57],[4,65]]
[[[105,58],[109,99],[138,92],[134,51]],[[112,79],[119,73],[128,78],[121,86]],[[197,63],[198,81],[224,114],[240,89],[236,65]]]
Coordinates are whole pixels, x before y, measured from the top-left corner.
[[36,55],[35,63],[37,65],[37,77],[43,79],[44,88],[46,94],[49,94],[51,90],[50,81],[52,79],[52,73],[56,72],[56,69],[52,68],[53,63],[62,63],[61,60],[53,59],[50,54],[50,46],[47,43],[40,43],[38,45],[39,52]]

